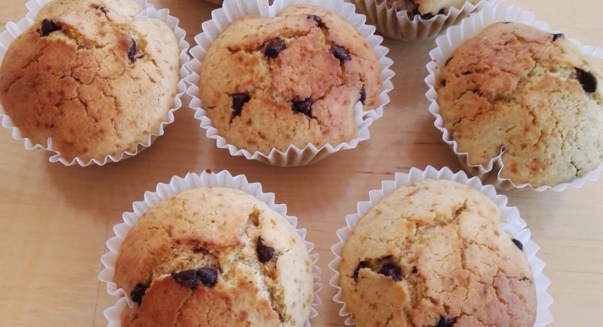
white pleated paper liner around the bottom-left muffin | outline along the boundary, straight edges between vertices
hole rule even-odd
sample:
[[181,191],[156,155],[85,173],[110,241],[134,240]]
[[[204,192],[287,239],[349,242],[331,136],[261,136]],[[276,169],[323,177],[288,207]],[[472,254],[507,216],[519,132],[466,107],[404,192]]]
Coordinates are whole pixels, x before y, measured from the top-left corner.
[[[236,188],[241,191],[247,192],[253,195],[259,200],[265,202],[270,208],[274,209],[274,211],[278,212],[282,215],[291,226],[295,229],[300,237],[304,240],[306,244],[306,248],[308,249],[308,253],[312,252],[314,249],[314,243],[310,243],[306,241],[306,229],[301,228],[297,229],[297,217],[287,215],[287,206],[286,205],[277,205],[274,203],[274,193],[265,193],[262,191],[262,185],[260,183],[249,183],[247,182],[247,177],[244,175],[232,176],[229,171],[223,170],[217,174],[204,171],[201,175],[197,175],[194,173],[188,173],[184,178],[174,176],[169,181],[168,184],[159,183],[157,184],[156,191],[145,192],[144,201],[142,202],[134,202],[133,209],[134,212],[124,212],[124,222],[121,224],[116,224],[113,226],[113,231],[115,232],[115,237],[107,240],[107,247],[109,248],[109,252],[105,253],[101,258],[101,262],[103,262],[104,268],[101,273],[98,275],[98,279],[103,282],[107,282],[107,292],[109,294],[122,297],[118,300],[118,302],[107,308],[104,311],[104,315],[107,320],[109,320],[110,327],[118,327],[121,326],[121,313],[124,310],[125,306],[133,307],[133,302],[130,299],[130,294],[127,294],[122,288],[118,288],[115,282],[113,281],[113,276],[115,276],[115,261],[117,259],[117,255],[119,252],[119,247],[124,241],[125,235],[131,229],[132,226],[148,211],[151,207],[160,202],[161,200],[171,197],[172,195],[178,194],[180,192],[186,191],[188,189],[201,188],[206,186],[221,186],[228,188]],[[318,297],[318,291],[322,288],[322,284],[320,284],[320,268],[316,265],[318,261],[318,254],[314,253],[310,255],[312,259],[312,276],[314,278],[314,302],[311,305],[311,313],[310,317],[306,319],[305,327],[311,327],[309,319],[312,319],[318,315],[318,312],[315,309],[315,306],[320,305],[320,297]]]

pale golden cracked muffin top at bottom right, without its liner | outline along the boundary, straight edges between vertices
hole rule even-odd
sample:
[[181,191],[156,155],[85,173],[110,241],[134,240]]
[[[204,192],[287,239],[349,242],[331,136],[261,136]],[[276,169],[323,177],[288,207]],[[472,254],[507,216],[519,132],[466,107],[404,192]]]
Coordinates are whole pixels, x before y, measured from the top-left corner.
[[421,180],[382,198],[343,247],[339,284],[359,327],[532,327],[523,245],[488,197]]

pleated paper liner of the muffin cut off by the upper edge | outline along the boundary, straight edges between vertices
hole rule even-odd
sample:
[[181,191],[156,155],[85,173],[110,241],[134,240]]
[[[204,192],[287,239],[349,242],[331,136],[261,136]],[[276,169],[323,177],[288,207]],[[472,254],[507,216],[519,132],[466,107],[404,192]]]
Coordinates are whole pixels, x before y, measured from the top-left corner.
[[375,25],[377,31],[392,39],[421,40],[430,39],[446,31],[446,28],[461,21],[470,13],[491,7],[507,0],[482,0],[477,4],[465,2],[463,7],[452,7],[445,14],[436,14],[429,19],[420,15],[409,17],[406,10],[397,10],[396,5],[389,7],[386,1],[346,0],[356,4],[362,14],[367,15],[368,24]]

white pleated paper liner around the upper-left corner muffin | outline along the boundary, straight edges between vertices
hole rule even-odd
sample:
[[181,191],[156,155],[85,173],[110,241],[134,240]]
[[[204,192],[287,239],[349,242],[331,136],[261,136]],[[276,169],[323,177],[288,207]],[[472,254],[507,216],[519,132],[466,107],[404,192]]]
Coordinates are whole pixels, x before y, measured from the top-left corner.
[[[8,49],[8,46],[17,36],[27,30],[31,25],[34,24],[34,19],[36,18],[36,14],[43,7],[43,5],[47,4],[51,0],[31,0],[25,4],[25,7],[28,8],[28,12],[25,15],[25,18],[22,18],[20,21],[7,22],[6,30],[0,33],[0,62]],[[82,167],[90,165],[92,163],[96,163],[96,165],[104,165],[105,163],[110,162],[118,162],[119,160],[124,160],[132,156],[136,156],[139,152],[145,150],[145,148],[150,147],[150,145],[155,141],[155,139],[161,135],[163,135],[163,128],[165,125],[171,124],[174,122],[174,112],[180,107],[182,107],[182,96],[186,92],[186,83],[185,78],[188,77],[189,71],[186,69],[186,63],[191,60],[191,57],[188,55],[189,43],[186,42],[185,36],[186,31],[182,28],[178,27],[178,19],[174,16],[169,16],[168,9],[160,9],[156,10],[152,4],[149,4],[147,0],[135,0],[138,4],[142,5],[144,8],[141,13],[139,13],[136,17],[150,17],[154,19],[159,19],[160,21],[166,22],[169,27],[173,28],[175,36],[179,40],[180,46],[180,81],[178,81],[178,90],[177,95],[174,97],[174,104],[172,108],[168,112],[167,120],[161,122],[159,125],[159,132],[153,133],[148,136],[148,139],[144,143],[139,143],[136,145],[136,150],[133,152],[124,151],[118,156],[107,155],[103,158],[103,160],[91,159],[89,161],[84,161],[79,157],[75,157],[73,160],[69,161],[60,154],[57,150],[55,150],[52,139],[48,138],[48,142],[46,145],[43,144],[34,144],[31,139],[24,138],[21,135],[21,131],[19,128],[13,125],[13,121],[11,121],[10,116],[8,116],[4,112],[4,107],[0,104],[0,120],[2,123],[2,127],[7,129],[12,129],[13,139],[16,140],[24,140],[25,148],[27,150],[33,150],[36,148],[42,148],[43,150],[52,151],[55,154],[52,155],[49,160],[50,162],[61,162],[63,165],[71,166],[76,163]]]

